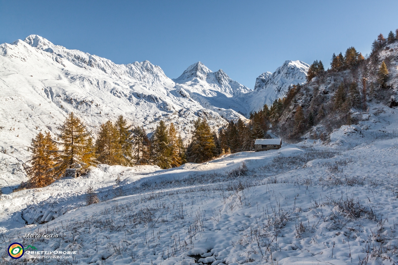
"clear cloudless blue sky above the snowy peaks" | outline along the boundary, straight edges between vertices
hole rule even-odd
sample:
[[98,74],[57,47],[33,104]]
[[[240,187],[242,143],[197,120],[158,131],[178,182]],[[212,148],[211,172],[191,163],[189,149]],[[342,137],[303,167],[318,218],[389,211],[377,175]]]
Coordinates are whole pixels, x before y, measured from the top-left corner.
[[0,43],[37,34],[118,64],[149,60],[170,78],[201,61],[249,88],[285,60],[330,66],[350,46],[370,53],[396,28],[396,0],[0,0]]

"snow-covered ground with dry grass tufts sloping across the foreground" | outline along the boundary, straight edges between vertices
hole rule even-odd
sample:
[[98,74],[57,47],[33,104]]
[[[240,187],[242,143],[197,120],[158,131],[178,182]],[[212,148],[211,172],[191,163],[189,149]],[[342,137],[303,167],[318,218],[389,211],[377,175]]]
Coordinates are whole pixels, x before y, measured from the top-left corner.
[[[2,252],[0,264],[396,264],[396,112],[373,104],[330,142],[170,170],[103,165],[41,189],[6,190],[1,249],[20,242],[76,254],[15,261]],[[86,206],[89,185],[100,203]]]

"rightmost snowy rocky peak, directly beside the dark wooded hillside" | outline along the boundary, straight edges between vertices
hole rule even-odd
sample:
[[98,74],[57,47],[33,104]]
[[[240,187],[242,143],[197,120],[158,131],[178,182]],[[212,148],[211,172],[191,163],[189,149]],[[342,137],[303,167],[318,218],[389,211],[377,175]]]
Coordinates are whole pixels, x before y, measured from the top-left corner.
[[287,60],[275,72],[265,72],[256,79],[253,92],[242,96],[250,111],[258,111],[264,104],[272,105],[275,99],[285,96],[289,86],[304,84],[310,66],[302,61]]

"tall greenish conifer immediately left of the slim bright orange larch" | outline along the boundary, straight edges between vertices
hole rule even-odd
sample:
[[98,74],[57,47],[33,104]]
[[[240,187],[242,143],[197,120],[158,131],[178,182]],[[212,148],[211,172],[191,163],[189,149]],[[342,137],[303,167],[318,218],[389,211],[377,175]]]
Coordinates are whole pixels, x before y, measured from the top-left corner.
[[151,159],[160,168],[172,167],[170,140],[164,121],[160,121],[151,137]]

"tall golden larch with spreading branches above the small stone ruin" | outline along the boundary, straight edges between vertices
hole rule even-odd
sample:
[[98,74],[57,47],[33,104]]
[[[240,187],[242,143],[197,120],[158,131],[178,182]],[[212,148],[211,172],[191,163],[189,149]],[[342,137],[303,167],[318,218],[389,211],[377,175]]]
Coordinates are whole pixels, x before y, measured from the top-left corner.
[[56,165],[58,175],[62,175],[67,168],[86,170],[96,164],[91,132],[73,112],[58,129],[62,146],[60,162]]

